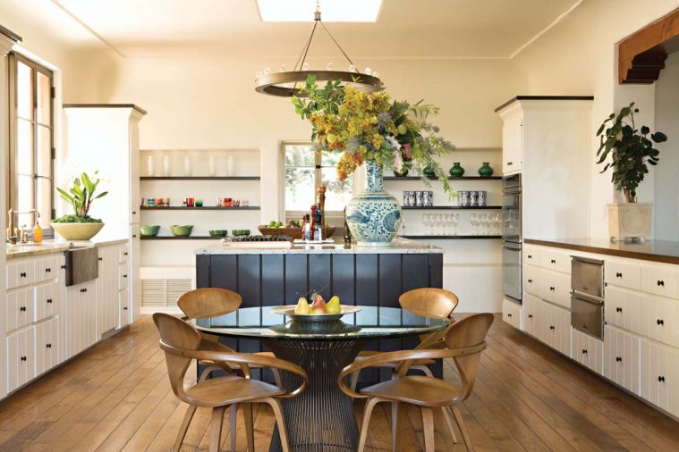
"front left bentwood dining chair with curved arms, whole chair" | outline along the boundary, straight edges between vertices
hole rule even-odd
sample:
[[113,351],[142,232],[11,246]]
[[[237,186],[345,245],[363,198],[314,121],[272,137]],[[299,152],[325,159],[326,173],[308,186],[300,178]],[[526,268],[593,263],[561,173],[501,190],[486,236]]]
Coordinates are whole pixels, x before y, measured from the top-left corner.
[[[235,408],[242,406],[245,416],[245,429],[248,440],[248,450],[254,452],[254,433],[252,426],[253,403],[266,403],[274,410],[276,425],[280,433],[281,445],[284,451],[289,450],[287,434],[280,398],[292,398],[306,388],[309,377],[299,365],[289,363],[282,359],[270,356],[242,354],[235,352],[223,352],[212,350],[200,350],[200,334],[191,325],[183,322],[172,315],[153,314],[153,322],[156,323],[160,332],[160,347],[165,351],[167,362],[167,374],[174,395],[189,404],[184,415],[182,426],[174,442],[173,450],[182,447],[182,442],[189,429],[189,424],[199,406],[212,408],[209,424],[210,451],[221,448],[222,423],[225,408],[231,406],[231,449],[235,450],[236,423]],[[184,376],[193,359],[206,360],[215,363],[233,363],[242,368],[243,376],[227,375],[206,380],[203,373],[199,381],[184,388]],[[292,372],[301,377],[299,388],[289,392],[280,386],[269,384],[264,381],[250,379],[249,368],[257,365],[260,368],[274,368],[283,372]],[[249,415],[248,415],[249,414]]]

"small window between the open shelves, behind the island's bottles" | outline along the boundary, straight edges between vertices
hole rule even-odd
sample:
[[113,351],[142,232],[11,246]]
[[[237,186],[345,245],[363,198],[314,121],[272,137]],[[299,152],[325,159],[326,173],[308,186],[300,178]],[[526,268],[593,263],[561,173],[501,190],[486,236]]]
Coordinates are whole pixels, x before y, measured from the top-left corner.
[[325,185],[326,212],[340,213],[352,197],[353,178],[337,180],[340,155],[316,152],[310,143],[284,143],[285,216],[297,220],[316,202],[316,188]]

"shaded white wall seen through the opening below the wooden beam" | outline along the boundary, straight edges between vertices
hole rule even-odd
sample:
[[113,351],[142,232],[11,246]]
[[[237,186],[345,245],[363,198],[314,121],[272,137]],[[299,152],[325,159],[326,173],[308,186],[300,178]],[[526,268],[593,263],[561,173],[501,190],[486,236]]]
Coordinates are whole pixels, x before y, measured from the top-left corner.
[[679,52],[671,54],[656,82],[656,130],[667,135],[658,145],[655,180],[655,238],[679,240]]

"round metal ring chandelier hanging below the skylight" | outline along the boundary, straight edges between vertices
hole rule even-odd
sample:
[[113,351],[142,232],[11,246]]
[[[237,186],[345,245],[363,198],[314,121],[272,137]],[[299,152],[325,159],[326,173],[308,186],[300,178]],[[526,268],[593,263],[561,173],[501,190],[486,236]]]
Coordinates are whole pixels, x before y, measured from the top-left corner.
[[[314,38],[314,33],[318,24],[326,31],[335,43],[335,46],[342,52],[344,58],[349,63],[349,71],[333,71],[333,63],[327,63],[326,71],[313,71],[309,69],[309,63],[306,62],[307,54],[311,46],[311,41]],[[345,87],[352,87],[365,92],[378,91],[382,88],[382,81],[379,80],[379,73],[372,71],[370,68],[365,68],[365,71],[358,71],[356,65],[349,58],[349,55],[344,52],[342,46],[336,41],[326,25],[320,18],[320,6],[316,2],[316,12],[314,13],[314,26],[311,29],[311,34],[307,38],[304,46],[301,49],[301,54],[294,64],[293,71],[286,71],[285,66],[280,67],[279,72],[272,72],[271,68],[265,68],[263,71],[257,73],[255,80],[255,91],[270,96],[292,97],[305,96],[301,88],[304,87],[307,77],[310,75],[316,76],[317,82],[327,82],[330,80],[339,80]]]

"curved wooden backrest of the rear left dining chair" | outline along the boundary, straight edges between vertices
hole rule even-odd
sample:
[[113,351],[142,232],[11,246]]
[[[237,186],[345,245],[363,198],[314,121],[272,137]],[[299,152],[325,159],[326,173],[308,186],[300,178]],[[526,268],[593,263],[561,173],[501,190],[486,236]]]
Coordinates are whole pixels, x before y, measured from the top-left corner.
[[229,314],[241,306],[240,294],[228,289],[205,288],[186,292],[177,306],[190,319],[207,319]]

